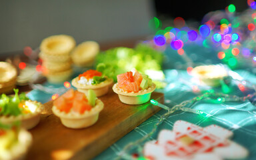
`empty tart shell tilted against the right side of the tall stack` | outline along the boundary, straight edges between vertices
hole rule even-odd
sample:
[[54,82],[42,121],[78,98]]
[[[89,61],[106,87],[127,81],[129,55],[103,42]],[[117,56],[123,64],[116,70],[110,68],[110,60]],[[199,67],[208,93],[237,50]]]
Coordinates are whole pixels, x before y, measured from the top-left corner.
[[90,67],[93,65],[96,55],[99,53],[99,44],[95,41],[85,41],[79,44],[71,53],[75,65]]

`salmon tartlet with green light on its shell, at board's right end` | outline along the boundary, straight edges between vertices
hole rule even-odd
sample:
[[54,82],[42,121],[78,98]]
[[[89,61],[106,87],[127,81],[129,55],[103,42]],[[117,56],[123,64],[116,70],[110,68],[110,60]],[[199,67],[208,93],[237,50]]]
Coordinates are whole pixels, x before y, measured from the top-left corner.
[[[133,77],[131,77],[131,74],[133,74]],[[121,76],[125,77],[125,80],[120,78]],[[135,76],[139,78],[136,79]],[[132,80],[127,79],[126,77],[131,77]],[[122,103],[127,105],[140,105],[149,101],[151,93],[156,88],[155,83],[150,83],[147,87],[141,87],[141,83],[143,83],[142,81],[144,81],[144,79],[151,81],[147,75],[141,75],[137,71],[134,71],[133,73],[131,73],[131,71],[123,73],[121,75],[117,75],[117,83],[113,85],[112,89],[118,94]],[[133,83],[133,85],[137,85],[137,89],[135,91],[133,91],[134,89],[127,89],[126,85],[130,85],[131,83]]]

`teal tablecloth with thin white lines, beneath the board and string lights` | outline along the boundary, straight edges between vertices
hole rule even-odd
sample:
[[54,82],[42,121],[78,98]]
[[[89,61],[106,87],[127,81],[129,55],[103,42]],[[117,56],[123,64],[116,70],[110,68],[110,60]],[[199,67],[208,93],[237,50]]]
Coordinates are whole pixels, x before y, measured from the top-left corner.
[[[210,65],[221,63],[217,58],[217,51],[201,47],[199,45],[187,45],[184,48],[185,52],[193,63],[196,65]],[[241,61],[245,62],[245,61]],[[193,92],[193,84],[191,76],[185,71],[188,61],[185,61],[177,51],[168,49],[165,51],[165,62],[163,63],[164,73],[166,75],[165,80],[168,85],[165,89],[158,91],[165,93],[165,105],[173,107],[182,101],[192,99],[200,95],[201,93]],[[240,70],[235,70],[244,79],[256,84],[256,76],[251,73],[255,71],[253,69],[247,69],[246,62],[238,63]],[[250,72],[249,72],[250,71]],[[49,86],[48,83],[45,83]],[[55,87],[61,87],[63,85],[55,85]],[[209,87],[199,87],[201,91],[210,89]],[[215,91],[221,91],[220,88],[215,88]],[[237,87],[233,86],[233,95],[243,96],[243,93]],[[45,103],[51,99],[51,94],[43,93],[42,91],[33,90],[29,93],[29,97],[33,100]],[[226,129],[233,131],[233,141],[243,145],[249,150],[249,157],[247,159],[256,159],[256,109],[249,101],[240,103],[215,103],[215,101],[200,101],[191,106],[193,109],[200,109],[206,113],[211,114],[211,117],[202,117],[193,113],[184,113],[178,111],[177,113],[169,116],[164,120],[158,128],[158,131],[151,139],[156,139],[157,134],[161,129],[172,129],[173,124],[177,120],[184,120],[190,123],[195,123],[201,127],[207,125],[219,125]],[[122,151],[123,147],[131,141],[141,139],[141,137],[147,135],[153,128],[153,125],[157,123],[159,117],[165,113],[165,110],[161,110],[149,119],[133,129],[130,133],[125,135],[119,141],[115,142],[108,149],[103,151],[97,157],[96,160],[101,159],[115,159]],[[149,140],[151,140],[149,139]],[[131,153],[132,154],[132,153]]]

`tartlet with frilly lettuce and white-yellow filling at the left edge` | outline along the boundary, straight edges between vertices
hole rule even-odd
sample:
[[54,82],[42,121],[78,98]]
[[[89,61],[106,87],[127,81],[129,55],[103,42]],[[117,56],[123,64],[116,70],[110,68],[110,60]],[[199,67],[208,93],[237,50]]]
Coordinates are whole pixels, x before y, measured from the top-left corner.
[[[17,90],[15,90],[15,94],[17,94]],[[5,111],[4,108],[0,107],[5,112],[0,112],[0,123],[10,125],[16,121],[20,121],[21,127],[25,129],[32,129],[39,123],[40,114],[43,111],[43,105],[41,103],[27,99],[22,100],[17,106],[13,106],[15,107],[15,111],[12,111],[12,113],[6,110],[9,107],[8,105],[10,104],[5,105]]]

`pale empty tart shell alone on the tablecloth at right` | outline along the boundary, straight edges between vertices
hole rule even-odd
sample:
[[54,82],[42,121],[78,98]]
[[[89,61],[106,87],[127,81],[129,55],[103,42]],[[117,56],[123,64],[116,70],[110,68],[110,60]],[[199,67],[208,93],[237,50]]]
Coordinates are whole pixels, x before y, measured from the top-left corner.
[[221,80],[227,76],[227,71],[220,65],[201,65],[191,71],[194,77],[197,77],[201,83],[211,87],[221,85]]

